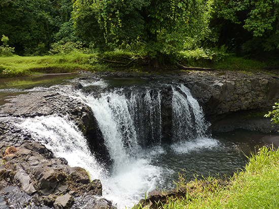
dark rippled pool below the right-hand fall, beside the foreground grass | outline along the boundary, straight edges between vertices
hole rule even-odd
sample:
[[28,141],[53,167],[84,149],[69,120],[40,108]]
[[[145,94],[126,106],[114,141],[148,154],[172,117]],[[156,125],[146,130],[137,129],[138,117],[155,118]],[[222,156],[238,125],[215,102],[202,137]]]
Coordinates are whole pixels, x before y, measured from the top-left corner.
[[[165,169],[164,180],[159,188],[172,188],[178,180],[178,173],[187,180],[208,176],[228,178],[242,171],[250,153],[263,146],[259,132],[237,130],[218,134],[211,138],[200,138],[172,145],[165,144],[151,148],[150,161]],[[155,150],[152,150],[155,149]]]

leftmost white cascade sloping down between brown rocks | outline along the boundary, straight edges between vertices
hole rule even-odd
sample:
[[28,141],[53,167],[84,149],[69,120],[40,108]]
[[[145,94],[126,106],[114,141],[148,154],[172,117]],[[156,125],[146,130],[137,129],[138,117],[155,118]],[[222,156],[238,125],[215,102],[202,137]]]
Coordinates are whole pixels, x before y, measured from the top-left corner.
[[32,137],[50,149],[56,157],[64,157],[70,166],[86,169],[92,179],[106,173],[90,152],[86,139],[76,125],[60,116],[21,118],[15,126],[32,133]]

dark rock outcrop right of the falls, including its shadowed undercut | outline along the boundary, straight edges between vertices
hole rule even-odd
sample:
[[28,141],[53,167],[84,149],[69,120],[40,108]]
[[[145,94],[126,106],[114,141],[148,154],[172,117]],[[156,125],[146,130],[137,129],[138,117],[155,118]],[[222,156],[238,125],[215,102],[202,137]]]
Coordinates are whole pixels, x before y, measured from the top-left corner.
[[190,71],[180,75],[199,101],[213,132],[246,129],[269,133],[279,126],[264,114],[279,99],[279,78],[264,73]]

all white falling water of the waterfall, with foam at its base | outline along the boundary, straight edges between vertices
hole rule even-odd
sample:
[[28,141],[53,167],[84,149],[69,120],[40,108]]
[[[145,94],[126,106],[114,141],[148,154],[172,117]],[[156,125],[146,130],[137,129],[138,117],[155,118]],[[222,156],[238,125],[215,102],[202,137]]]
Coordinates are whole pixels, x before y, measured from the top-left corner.
[[[164,182],[164,178],[171,177],[176,172],[164,164],[156,164],[156,159],[162,158],[169,151],[160,144],[160,90],[146,88],[140,92],[133,88],[129,91],[115,89],[101,93],[99,97],[78,92],[78,98],[91,107],[104,143],[114,161],[109,175],[90,152],[82,133],[67,118],[22,118],[18,126],[35,133],[38,141],[45,144],[56,156],[64,157],[69,165],[81,166],[89,171],[93,179],[100,179],[103,196],[117,204],[119,209],[136,204],[139,199],[144,198],[145,192],[156,189],[158,185],[164,188],[162,185],[169,185],[173,181]],[[201,108],[183,85],[172,87],[172,106],[173,137],[178,141],[181,139],[179,137],[183,137],[185,141],[199,138],[199,141],[188,142],[185,146],[175,147],[175,144],[172,146],[173,150],[183,153],[217,145],[216,140],[202,138],[205,132],[203,129],[207,126]],[[187,126],[182,126],[182,123]],[[153,147],[147,149],[145,145],[148,142],[151,142]]]

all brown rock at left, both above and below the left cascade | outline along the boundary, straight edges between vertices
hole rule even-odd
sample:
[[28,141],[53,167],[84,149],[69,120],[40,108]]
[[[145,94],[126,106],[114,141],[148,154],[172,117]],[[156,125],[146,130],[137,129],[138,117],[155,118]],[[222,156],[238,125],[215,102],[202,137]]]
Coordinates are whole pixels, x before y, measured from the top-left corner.
[[80,208],[77,205],[86,198],[91,208],[98,205],[113,208],[109,200],[100,200],[102,185],[99,180],[91,181],[84,169],[71,168],[64,158],[55,157],[44,145],[34,141],[32,133],[14,125],[17,118],[42,115],[67,116],[84,135],[95,124],[89,107],[58,93],[19,95],[2,106],[0,205],[6,206],[1,208],[24,208],[29,205],[32,208]]

